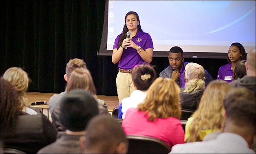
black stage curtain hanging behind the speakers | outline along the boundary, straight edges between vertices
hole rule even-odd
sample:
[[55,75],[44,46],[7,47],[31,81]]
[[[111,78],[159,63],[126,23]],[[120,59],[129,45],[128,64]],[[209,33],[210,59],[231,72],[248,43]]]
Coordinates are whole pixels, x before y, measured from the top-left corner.
[[[63,92],[65,66],[70,59],[80,58],[92,74],[97,94],[117,95],[117,64],[111,56],[97,56],[104,0],[2,0],[0,7],[1,76],[10,67],[21,67],[32,81],[28,92]],[[219,66],[227,63],[226,59],[186,61],[201,64],[213,79]],[[169,63],[166,57],[153,57],[152,65],[159,74]]]

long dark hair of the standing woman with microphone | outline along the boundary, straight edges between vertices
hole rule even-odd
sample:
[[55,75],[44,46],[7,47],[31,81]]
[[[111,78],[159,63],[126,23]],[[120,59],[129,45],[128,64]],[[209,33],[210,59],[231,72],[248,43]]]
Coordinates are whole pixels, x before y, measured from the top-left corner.
[[139,20],[138,13],[136,13],[134,11],[130,11],[130,12],[126,13],[125,18],[124,18],[124,28],[123,28],[121,36],[118,40],[117,49],[122,45],[122,41],[126,38],[126,32],[128,31],[128,28],[126,26],[126,18],[127,18],[128,15],[135,15],[136,16],[137,20],[139,21],[138,30],[143,32],[143,30],[141,29],[141,22]]

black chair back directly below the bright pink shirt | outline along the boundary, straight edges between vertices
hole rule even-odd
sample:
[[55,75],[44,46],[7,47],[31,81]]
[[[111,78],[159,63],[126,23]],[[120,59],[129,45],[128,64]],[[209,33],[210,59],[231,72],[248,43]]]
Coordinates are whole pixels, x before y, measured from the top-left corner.
[[129,141],[128,154],[167,154],[171,151],[163,140],[150,136],[126,135]]

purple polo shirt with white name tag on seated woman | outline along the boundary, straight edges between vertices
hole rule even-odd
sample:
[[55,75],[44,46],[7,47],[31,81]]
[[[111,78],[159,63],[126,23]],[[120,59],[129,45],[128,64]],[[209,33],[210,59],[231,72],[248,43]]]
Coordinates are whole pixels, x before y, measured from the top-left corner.
[[219,68],[217,79],[224,80],[228,83],[233,81],[233,70],[231,69],[230,63]]

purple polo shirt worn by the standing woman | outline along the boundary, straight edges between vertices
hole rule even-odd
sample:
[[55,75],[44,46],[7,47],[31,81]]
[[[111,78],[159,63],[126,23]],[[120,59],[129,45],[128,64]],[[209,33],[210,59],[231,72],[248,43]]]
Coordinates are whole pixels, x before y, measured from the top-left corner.
[[[120,36],[121,34],[115,39],[113,49],[117,48]],[[138,46],[141,46],[143,50],[148,48],[154,49],[152,38],[148,33],[137,31],[136,35],[132,37],[132,41]],[[121,59],[119,60],[118,67],[124,70],[131,70],[134,65],[142,64],[143,62],[144,60],[141,58],[139,53],[137,53],[137,50],[132,47],[128,47],[127,49],[124,49]]]

